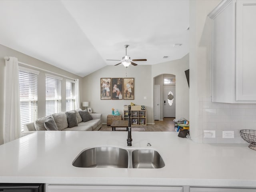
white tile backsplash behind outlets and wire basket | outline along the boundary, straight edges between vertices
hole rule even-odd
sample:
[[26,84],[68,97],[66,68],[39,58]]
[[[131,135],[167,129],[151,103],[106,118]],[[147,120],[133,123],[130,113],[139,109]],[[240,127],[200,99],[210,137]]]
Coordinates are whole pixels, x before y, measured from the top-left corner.
[[[256,104],[216,103],[211,97],[198,99],[198,123],[203,143],[246,143],[241,129],[256,130]],[[204,130],[215,130],[215,138],[204,138]],[[234,131],[234,138],[222,138],[222,131]]]

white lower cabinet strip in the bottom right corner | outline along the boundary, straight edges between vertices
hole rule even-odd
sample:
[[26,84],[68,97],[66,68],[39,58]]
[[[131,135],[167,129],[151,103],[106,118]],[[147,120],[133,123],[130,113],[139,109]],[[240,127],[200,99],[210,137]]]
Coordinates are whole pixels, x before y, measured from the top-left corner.
[[256,192],[256,189],[219,188],[219,187],[190,187],[190,192]]

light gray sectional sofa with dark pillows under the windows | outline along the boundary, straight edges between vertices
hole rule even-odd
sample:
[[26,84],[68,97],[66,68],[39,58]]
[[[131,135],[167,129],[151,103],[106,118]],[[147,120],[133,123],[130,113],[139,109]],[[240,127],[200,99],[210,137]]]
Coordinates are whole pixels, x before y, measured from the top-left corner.
[[101,113],[81,109],[55,113],[24,125],[22,136],[40,130],[97,131],[102,127]]

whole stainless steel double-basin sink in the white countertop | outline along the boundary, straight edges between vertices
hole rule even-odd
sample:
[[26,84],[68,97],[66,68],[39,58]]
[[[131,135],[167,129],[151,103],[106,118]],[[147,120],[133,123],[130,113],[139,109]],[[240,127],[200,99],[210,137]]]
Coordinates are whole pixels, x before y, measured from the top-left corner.
[[83,168],[162,168],[165,166],[160,154],[150,149],[122,149],[96,147],[82,151],[73,166]]

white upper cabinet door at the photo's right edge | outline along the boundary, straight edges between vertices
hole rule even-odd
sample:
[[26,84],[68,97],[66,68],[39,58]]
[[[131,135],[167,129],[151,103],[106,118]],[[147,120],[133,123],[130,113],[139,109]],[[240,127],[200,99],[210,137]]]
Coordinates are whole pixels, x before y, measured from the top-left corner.
[[256,0],[236,5],[236,100],[256,101]]

